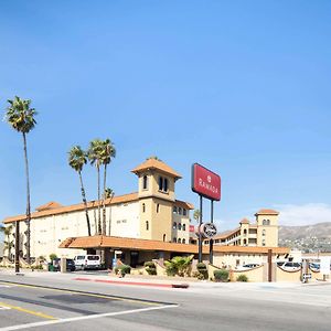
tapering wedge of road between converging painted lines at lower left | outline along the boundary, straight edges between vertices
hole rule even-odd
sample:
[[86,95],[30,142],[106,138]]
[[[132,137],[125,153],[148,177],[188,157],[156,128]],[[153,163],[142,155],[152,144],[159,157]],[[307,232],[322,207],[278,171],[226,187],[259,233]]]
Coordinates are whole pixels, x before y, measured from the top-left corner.
[[[158,307],[156,302],[137,301],[90,292],[13,285],[0,290],[0,328],[39,322],[41,320],[65,320],[100,317],[139,311],[146,307]],[[1,303],[0,303],[1,306]],[[10,312],[9,312],[10,311]],[[3,316],[9,318],[3,318]]]

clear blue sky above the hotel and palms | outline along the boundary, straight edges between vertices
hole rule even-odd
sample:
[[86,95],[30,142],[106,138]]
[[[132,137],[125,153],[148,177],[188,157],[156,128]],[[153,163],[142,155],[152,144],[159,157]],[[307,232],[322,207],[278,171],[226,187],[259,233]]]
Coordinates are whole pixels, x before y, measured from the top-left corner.
[[[81,202],[66,153],[109,137],[117,194],[157,154],[195,205],[191,164],[221,174],[220,231],[260,207],[331,221],[330,15],[330,1],[1,1],[0,108],[19,95],[39,111],[32,207]],[[0,140],[2,220],[24,213],[25,182],[21,137],[2,122]]]

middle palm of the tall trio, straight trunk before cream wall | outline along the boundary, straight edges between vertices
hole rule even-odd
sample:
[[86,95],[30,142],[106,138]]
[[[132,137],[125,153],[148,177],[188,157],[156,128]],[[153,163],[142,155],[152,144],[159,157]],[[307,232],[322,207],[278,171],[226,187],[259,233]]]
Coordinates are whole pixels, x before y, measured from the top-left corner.
[[98,235],[102,234],[102,214],[100,214],[100,166],[104,151],[104,141],[95,139],[89,142],[87,157],[92,166],[96,167],[97,170],[97,186],[98,186]]

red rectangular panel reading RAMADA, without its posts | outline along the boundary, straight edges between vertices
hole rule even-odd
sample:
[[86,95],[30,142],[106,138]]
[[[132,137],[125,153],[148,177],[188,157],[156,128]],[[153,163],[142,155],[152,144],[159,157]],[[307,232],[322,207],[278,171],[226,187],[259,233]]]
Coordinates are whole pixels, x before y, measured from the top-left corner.
[[221,200],[221,177],[194,163],[192,166],[192,191],[210,200]]

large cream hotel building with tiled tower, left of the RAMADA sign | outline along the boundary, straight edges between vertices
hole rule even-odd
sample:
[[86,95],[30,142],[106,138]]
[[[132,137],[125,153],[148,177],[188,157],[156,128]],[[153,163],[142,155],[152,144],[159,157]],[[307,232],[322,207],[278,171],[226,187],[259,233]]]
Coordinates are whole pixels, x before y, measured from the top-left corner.
[[[105,201],[106,235],[189,244],[190,210],[193,205],[175,199],[175,182],[181,175],[157,159],[148,159],[136,167],[132,173],[138,177],[138,192]],[[88,215],[92,234],[95,235],[98,202],[88,202]],[[20,222],[20,247],[24,256],[25,215],[3,221],[4,224],[13,225],[11,239],[15,222]],[[58,245],[68,237],[88,234],[84,204],[63,206],[57,202],[46,203],[32,213],[30,226],[32,257],[49,257],[53,253],[73,257],[82,249],[58,248]]]

